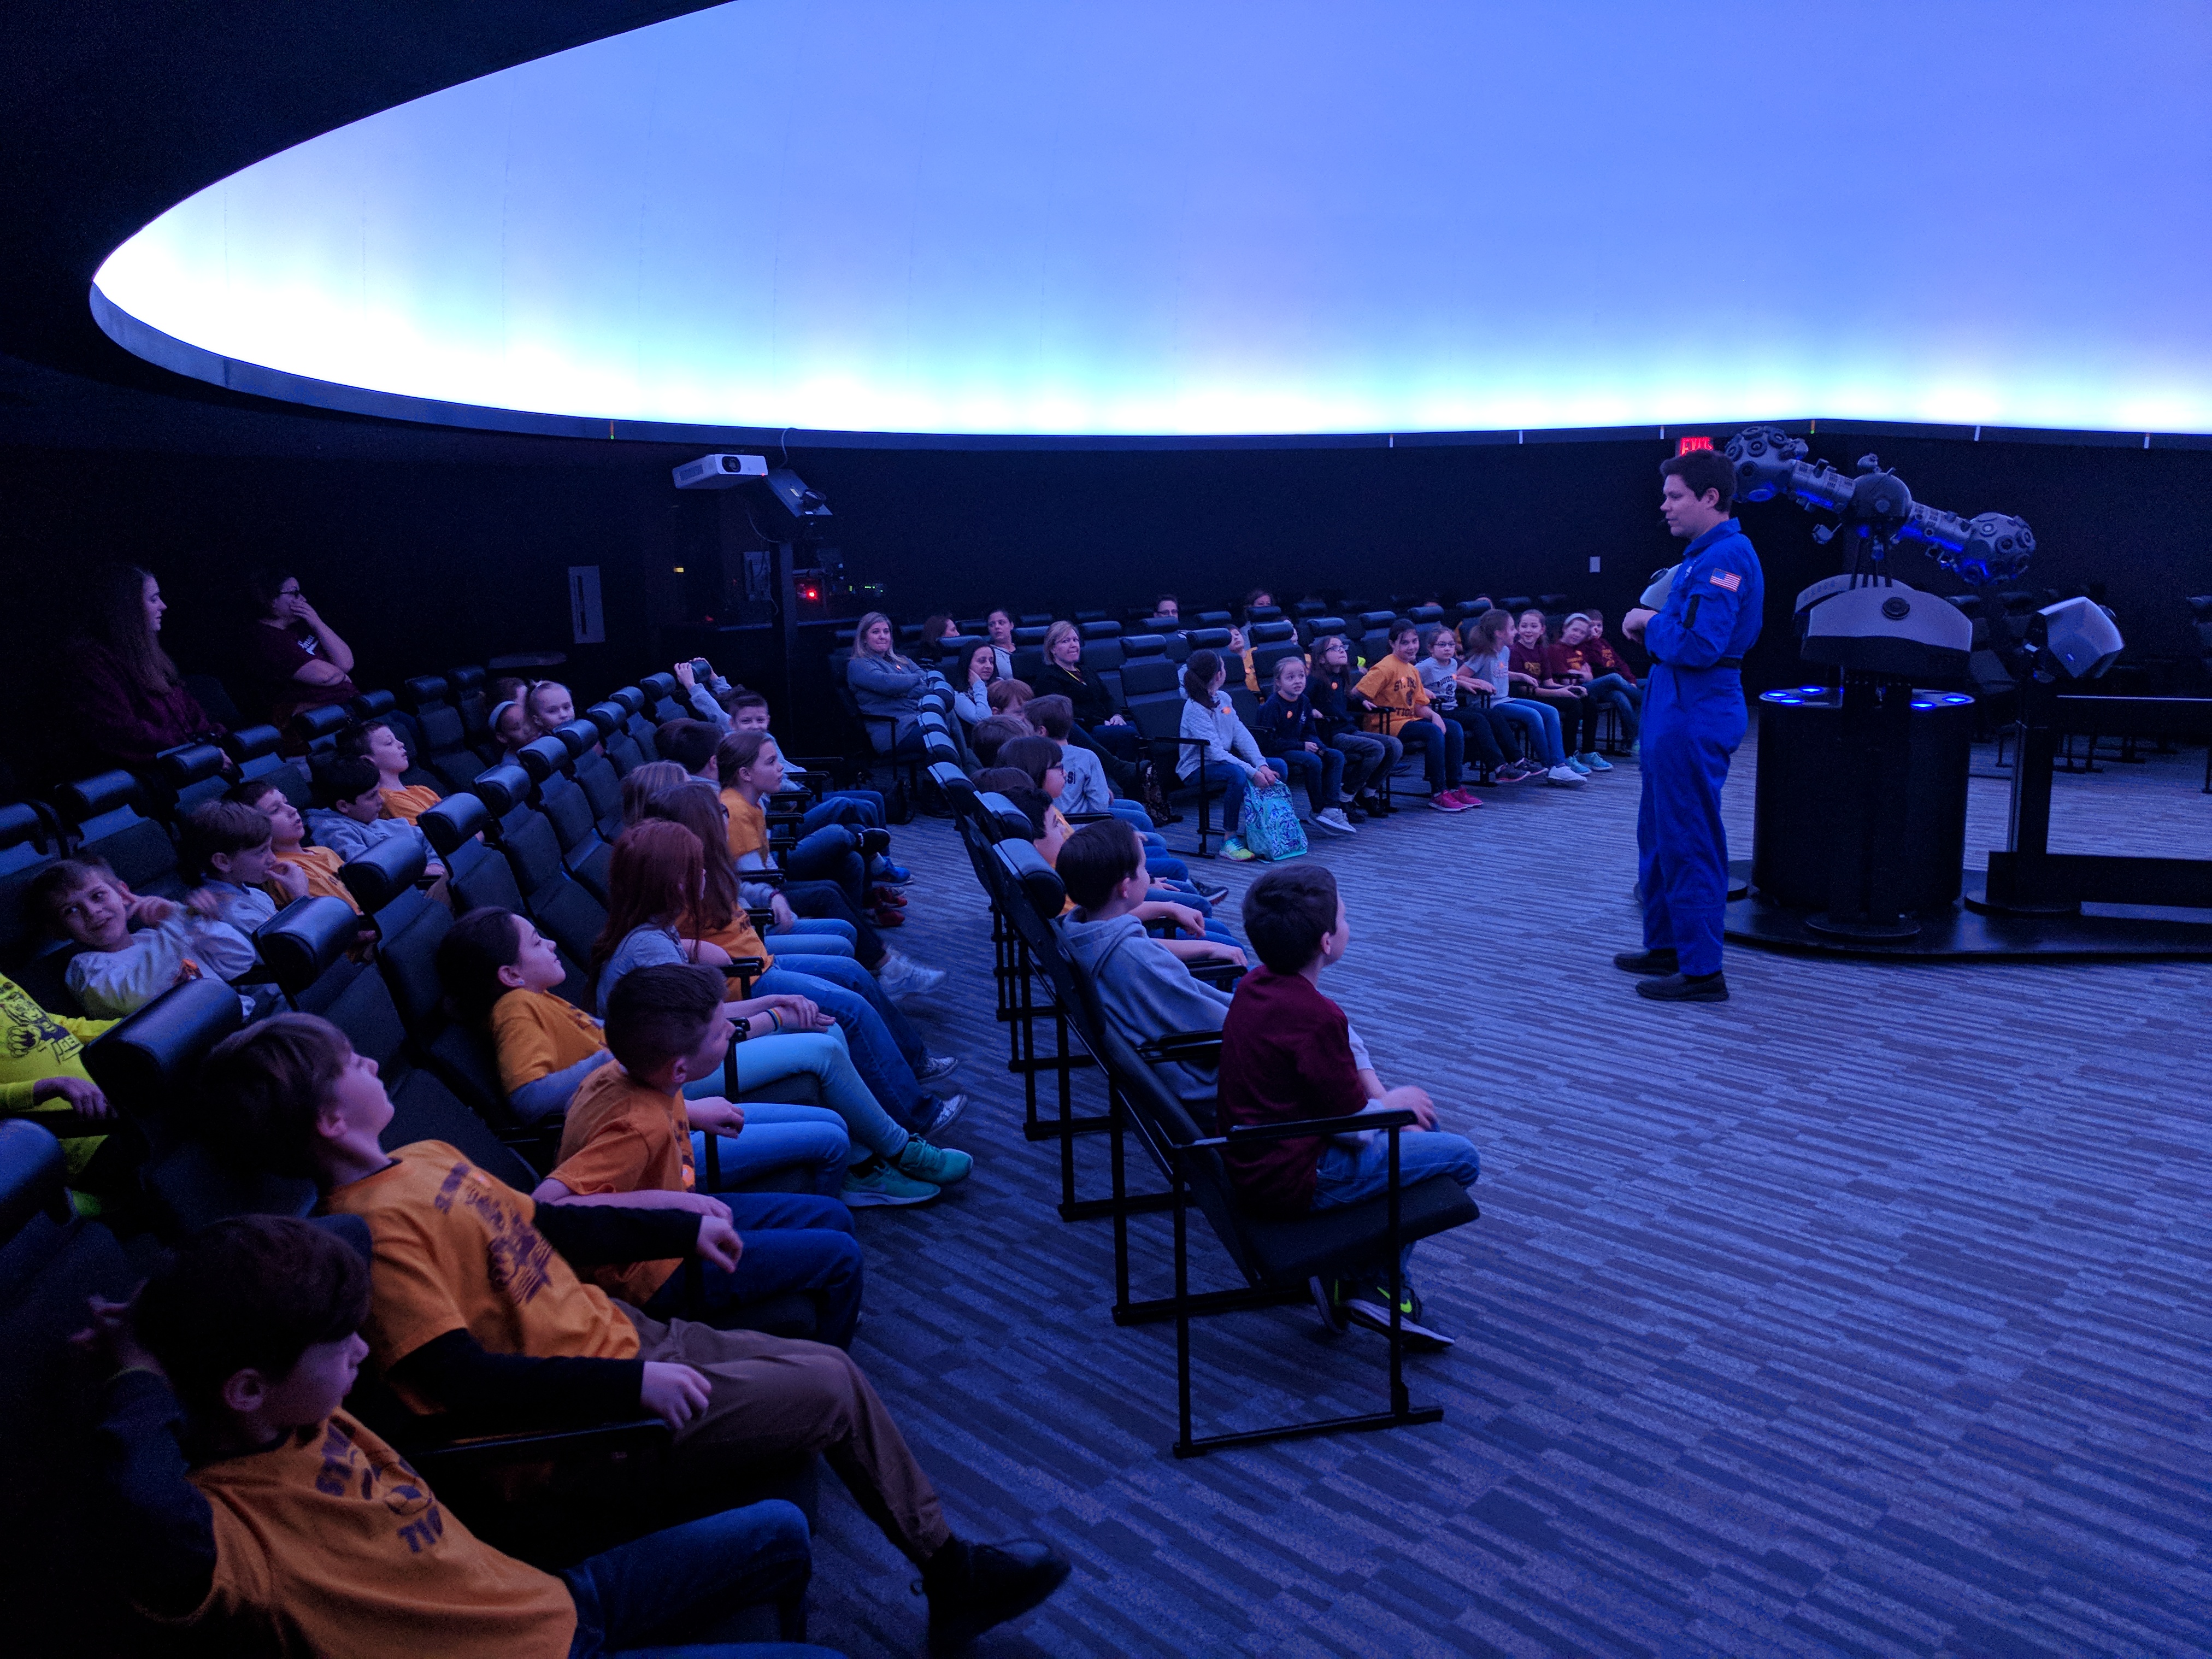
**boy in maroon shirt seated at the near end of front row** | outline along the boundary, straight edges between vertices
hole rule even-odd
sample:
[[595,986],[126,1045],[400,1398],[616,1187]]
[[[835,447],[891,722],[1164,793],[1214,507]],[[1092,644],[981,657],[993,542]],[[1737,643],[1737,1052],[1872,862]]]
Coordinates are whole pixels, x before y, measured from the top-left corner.
[[[1312,1117],[1352,1117],[1374,1106],[1411,1110],[1420,1130],[1436,1130],[1436,1108],[1422,1088],[1383,1088],[1352,1057],[1345,1011],[1321,995],[1321,969],[1352,945],[1352,922],[1336,894],[1336,878],[1321,865],[1279,865],[1252,883],[1243,902],[1245,936],[1263,967],[1237,982],[1237,998],[1221,1022],[1221,1121],[1292,1124]],[[1312,1135],[1223,1152],[1230,1181],[1245,1206],[1261,1214],[1305,1214],[1380,1197],[1389,1186],[1385,1135],[1347,1126],[1347,1135]],[[1400,1183],[1411,1188],[1433,1175],[1460,1186],[1480,1172],[1475,1148],[1460,1135],[1400,1137]],[[1400,1259],[1400,1329],[1422,1347],[1444,1349],[1451,1338],[1427,1327]],[[1389,1329],[1387,1279],[1367,1272],[1318,1287],[1336,1316],[1369,1329]]]

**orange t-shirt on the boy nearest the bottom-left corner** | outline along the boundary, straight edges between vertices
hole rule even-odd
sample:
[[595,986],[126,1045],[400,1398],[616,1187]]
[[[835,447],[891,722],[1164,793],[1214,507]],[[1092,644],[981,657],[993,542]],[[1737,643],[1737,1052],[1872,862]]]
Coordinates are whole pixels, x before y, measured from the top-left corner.
[[190,1480],[212,1515],[215,1582],[186,1624],[319,1659],[562,1659],[575,1639],[566,1584],[476,1537],[343,1411]]

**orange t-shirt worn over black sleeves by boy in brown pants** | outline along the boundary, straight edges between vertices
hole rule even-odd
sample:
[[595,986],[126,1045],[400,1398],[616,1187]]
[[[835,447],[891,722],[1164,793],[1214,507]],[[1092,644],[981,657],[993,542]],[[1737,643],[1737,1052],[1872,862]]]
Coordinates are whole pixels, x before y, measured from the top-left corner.
[[[389,1371],[447,1332],[487,1354],[635,1360],[637,1329],[531,1225],[538,1206],[445,1141],[416,1141],[361,1181],[334,1188],[330,1214],[369,1223],[369,1318],[361,1334]],[[416,1411],[436,1411],[407,1387]]]

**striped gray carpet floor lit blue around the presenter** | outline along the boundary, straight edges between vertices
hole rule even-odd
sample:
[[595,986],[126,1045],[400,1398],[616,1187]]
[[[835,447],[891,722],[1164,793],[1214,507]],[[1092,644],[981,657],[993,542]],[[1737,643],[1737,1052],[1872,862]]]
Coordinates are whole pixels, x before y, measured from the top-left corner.
[[[2055,845],[2212,856],[2201,768],[2062,776]],[[925,1029],[969,1057],[947,1139],[978,1172],[860,1214],[854,1352],[960,1531],[1077,1562],[980,1652],[2212,1648],[2212,967],[1732,951],[1734,1002],[1652,1006],[1606,962],[1635,796],[1621,765],[1316,852],[1354,920],[1325,989],[1482,1148],[1484,1219],[1416,1261],[1460,1336],[1411,1363],[1447,1420],[1197,1462],[1168,1455],[1172,1327],[1110,1323],[1110,1230],[1060,1223],[1020,1139],[967,863],[940,821],[898,832],[900,945],[975,982]],[[2002,823],[1978,781],[1969,847]],[[1102,1141],[1084,1166],[1099,1190]],[[1135,1225],[1161,1294],[1166,1217]],[[1201,1431],[1383,1402],[1380,1343],[1310,1312],[1203,1321],[1197,1356]],[[916,1652],[909,1579],[825,1495],[816,1641]]]

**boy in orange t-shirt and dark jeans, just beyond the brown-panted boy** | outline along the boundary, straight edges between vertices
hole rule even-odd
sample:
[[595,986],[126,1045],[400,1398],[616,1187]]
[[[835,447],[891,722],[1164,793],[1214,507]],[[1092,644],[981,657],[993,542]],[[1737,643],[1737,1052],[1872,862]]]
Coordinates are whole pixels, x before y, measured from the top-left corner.
[[[745,1144],[745,1108],[708,1095],[684,1097],[695,1077],[721,1075],[732,1026],[721,973],[690,964],[624,973],[606,1002],[613,1066],[586,1077],[562,1126],[560,1164],[531,1194],[538,1203],[637,1203],[686,1197],[697,1188],[692,1126]],[[757,1133],[754,1133],[757,1137]],[[849,1144],[832,1148],[832,1179],[843,1181]],[[940,1157],[964,1159],[964,1152]],[[723,1179],[752,1175],[757,1159],[723,1168]],[[690,1310],[723,1329],[781,1329],[792,1298],[814,1305],[810,1334],[845,1347],[860,1318],[860,1243],[852,1212],[810,1192],[730,1192],[726,1214],[743,1248],[734,1267],[703,1265],[692,1285],[679,1261],[599,1267],[593,1279],[648,1314]]]

